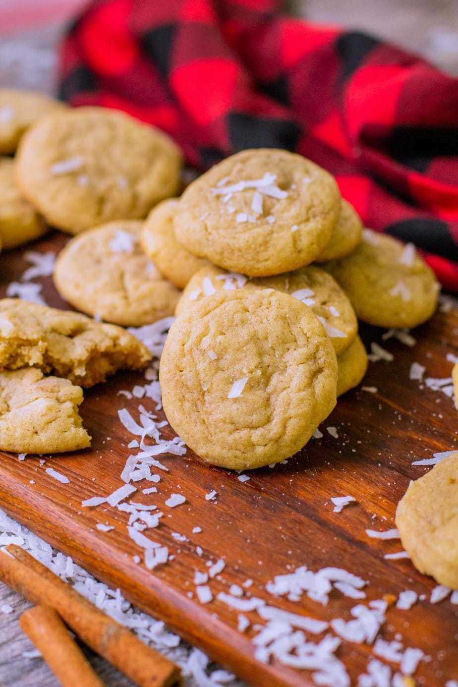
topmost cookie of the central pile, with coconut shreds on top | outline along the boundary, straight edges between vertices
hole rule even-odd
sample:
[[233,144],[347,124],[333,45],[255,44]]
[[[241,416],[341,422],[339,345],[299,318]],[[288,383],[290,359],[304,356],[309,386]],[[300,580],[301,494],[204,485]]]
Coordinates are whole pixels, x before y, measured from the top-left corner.
[[330,240],[341,198],[333,177],[286,150],[244,150],[193,181],[175,235],[192,253],[251,277],[297,269]]

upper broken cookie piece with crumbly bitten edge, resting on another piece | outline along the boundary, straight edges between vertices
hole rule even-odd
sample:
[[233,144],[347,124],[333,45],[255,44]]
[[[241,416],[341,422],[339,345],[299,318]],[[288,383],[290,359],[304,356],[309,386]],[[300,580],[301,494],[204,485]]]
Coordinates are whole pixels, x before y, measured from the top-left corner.
[[141,341],[114,324],[14,298],[0,300],[0,368],[27,366],[82,387],[150,361]]

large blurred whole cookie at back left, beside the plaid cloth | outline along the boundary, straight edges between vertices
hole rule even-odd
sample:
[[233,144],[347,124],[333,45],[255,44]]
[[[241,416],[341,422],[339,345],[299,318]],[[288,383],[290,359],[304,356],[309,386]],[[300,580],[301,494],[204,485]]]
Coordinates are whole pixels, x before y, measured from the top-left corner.
[[70,234],[145,217],[176,192],[180,170],[179,148],[165,133],[98,107],[42,117],[16,155],[21,192]]

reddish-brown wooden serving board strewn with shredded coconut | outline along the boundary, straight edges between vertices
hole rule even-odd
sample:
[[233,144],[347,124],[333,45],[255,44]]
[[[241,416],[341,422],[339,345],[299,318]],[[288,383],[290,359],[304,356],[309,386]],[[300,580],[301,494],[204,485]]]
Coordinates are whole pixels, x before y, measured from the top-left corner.
[[[61,234],[51,234],[32,248],[58,251],[66,241]],[[25,267],[21,251],[0,256],[2,295]],[[51,279],[41,281],[47,302],[67,307]],[[396,339],[382,342],[382,332],[375,328],[365,328],[362,334],[367,346],[378,341],[394,355],[392,363],[369,365],[364,384],[377,387],[378,392],[345,394],[323,423],[323,438],[311,440],[287,464],[257,470],[242,483],[236,473],[202,464],[188,450],[183,458],[160,457],[170,472],[161,473],[157,494],[141,494],[141,488],[151,484],[137,483],[135,501],[157,504],[165,513],[161,525],[146,534],[174,554],[167,565],[149,572],[143,564],[133,562],[133,556],[141,551],[128,537],[126,513],[106,505],[80,505],[82,499],[107,495],[122,486],[119,475],[133,436],[119,423],[117,410],[126,407],[137,418],[139,401],[127,401],[117,392],[144,384],[142,374],[117,374],[105,385],[85,392],[81,414],[93,436],[90,450],[45,457],[43,466],[36,457],[19,462],[16,455],[1,453],[0,507],[257,687],[306,687],[313,682],[307,671],[255,660],[251,631],[237,631],[236,611],[218,600],[201,605],[195,595],[189,598],[188,593],[194,592],[194,570],[206,570],[207,561],[226,561],[224,572],[211,581],[214,595],[229,592],[229,585],[251,578],[251,594],[322,620],[349,620],[357,601],[333,592],[326,606],[307,596],[301,602],[290,602],[273,598],[264,585],[275,575],[305,564],[314,571],[330,565],[363,576],[369,581],[367,601],[414,589],[426,594],[426,600],[409,611],[390,608],[382,636],[393,639],[400,633],[405,646],[423,649],[431,660],[420,664],[417,684],[442,687],[446,679],[458,679],[458,607],[449,600],[432,605],[428,600],[435,587],[432,578],[418,573],[409,560],[384,559],[384,554],[401,549],[400,541],[369,539],[365,529],[394,526],[396,504],[409,480],[428,469],[412,466],[413,460],[458,448],[458,415],[452,400],[441,392],[420,390],[417,381],[409,381],[413,361],[425,365],[430,376],[450,375],[446,354],[458,352],[458,311],[438,312],[417,329],[414,348]],[[154,410],[149,399],[140,403]],[[158,415],[163,418],[161,412]],[[336,427],[339,438],[330,436],[326,427]],[[172,438],[174,433],[165,427],[163,436]],[[49,477],[45,469],[51,466],[69,477],[69,484],[58,484]],[[211,490],[218,492],[216,502],[205,499]],[[171,493],[183,493],[187,502],[167,508],[164,502]],[[352,495],[357,503],[334,513],[330,497],[345,495]],[[99,532],[95,525],[100,522],[114,529]],[[193,534],[195,526],[203,531]],[[172,532],[185,534],[187,541],[177,542]],[[197,546],[203,549],[201,557]],[[259,621],[256,613],[247,616],[252,622]],[[337,655],[356,684],[371,657],[370,647],[343,642]]]

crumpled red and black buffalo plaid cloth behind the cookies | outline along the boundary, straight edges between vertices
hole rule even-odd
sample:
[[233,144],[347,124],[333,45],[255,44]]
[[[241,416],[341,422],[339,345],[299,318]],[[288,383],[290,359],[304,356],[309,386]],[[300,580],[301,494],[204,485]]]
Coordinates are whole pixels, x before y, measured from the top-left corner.
[[60,96],[159,126],[199,169],[244,148],[297,150],[458,291],[458,80],[281,4],[95,1],[62,43]]

